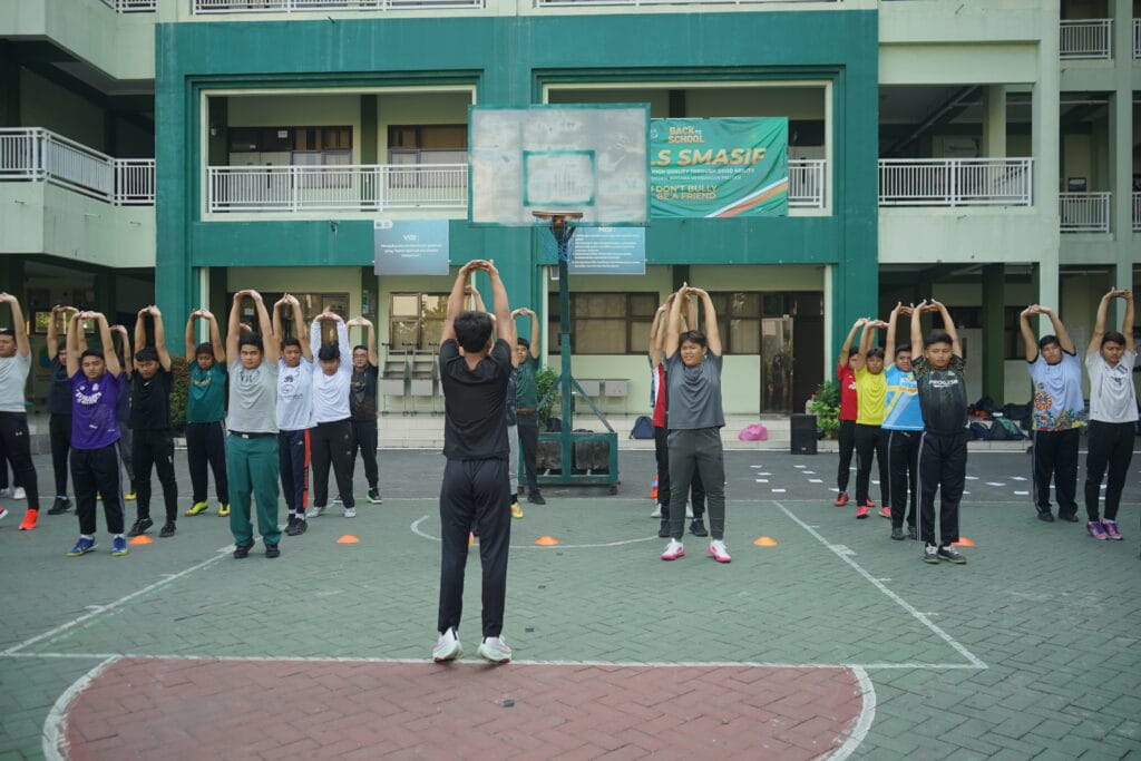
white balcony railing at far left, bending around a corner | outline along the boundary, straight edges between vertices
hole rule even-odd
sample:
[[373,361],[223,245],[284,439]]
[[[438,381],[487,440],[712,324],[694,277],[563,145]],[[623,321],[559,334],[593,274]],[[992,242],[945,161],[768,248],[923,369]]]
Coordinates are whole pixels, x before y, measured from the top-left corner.
[[47,180],[115,205],[154,203],[154,159],[112,159],[39,127],[0,129],[2,180]]

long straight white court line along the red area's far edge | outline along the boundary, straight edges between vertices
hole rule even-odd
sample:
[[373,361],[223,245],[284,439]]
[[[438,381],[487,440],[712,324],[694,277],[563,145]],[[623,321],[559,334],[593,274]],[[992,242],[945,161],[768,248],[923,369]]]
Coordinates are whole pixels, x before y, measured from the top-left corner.
[[[426,649],[431,647],[431,642],[426,640]],[[0,656],[3,657],[3,656]],[[15,653],[10,658],[57,658],[57,659],[82,659],[92,661],[104,658],[115,661],[121,658],[143,658],[154,661],[217,661],[217,662],[242,662],[250,661],[257,663],[399,663],[399,664],[426,664],[432,665],[431,656],[422,658],[381,658],[374,656],[329,656],[329,655],[186,655],[184,653],[175,655],[163,655],[154,653]],[[458,663],[483,664],[484,662],[475,657],[459,661]],[[526,661],[513,658],[512,665],[517,666],[622,666],[640,669],[679,669],[679,667],[711,667],[711,669],[860,669],[871,670],[921,670],[921,671],[965,671],[978,670],[978,666],[969,663],[783,663],[777,661]]]

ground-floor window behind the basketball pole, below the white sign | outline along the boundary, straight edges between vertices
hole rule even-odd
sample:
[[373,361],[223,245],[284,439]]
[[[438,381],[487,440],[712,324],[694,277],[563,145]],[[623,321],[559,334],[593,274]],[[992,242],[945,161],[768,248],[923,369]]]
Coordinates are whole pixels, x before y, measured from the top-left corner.
[[[570,351],[646,354],[657,293],[572,293]],[[548,294],[549,351],[559,353],[559,294]]]

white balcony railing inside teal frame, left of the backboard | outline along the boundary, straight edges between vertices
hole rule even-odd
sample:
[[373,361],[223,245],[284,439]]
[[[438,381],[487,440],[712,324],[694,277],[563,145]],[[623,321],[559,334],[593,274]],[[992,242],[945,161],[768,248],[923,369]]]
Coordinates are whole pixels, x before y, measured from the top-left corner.
[[466,209],[468,165],[210,167],[209,188],[211,212]]

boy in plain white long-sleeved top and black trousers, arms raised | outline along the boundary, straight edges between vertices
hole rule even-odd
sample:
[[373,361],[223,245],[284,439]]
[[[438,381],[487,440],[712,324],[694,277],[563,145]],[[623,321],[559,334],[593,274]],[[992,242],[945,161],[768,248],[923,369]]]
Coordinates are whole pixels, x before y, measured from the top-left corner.
[[[337,324],[337,343],[322,343],[321,327],[326,319]],[[309,445],[313,453],[313,508],[315,518],[329,503],[329,468],[332,465],[337,489],[345,505],[345,517],[356,517],[353,496],[353,418],[349,411],[349,386],[353,365],[349,353],[349,329],[340,315],[325,311],[313,318],[309,326],[309,350],[317,356],[313,378],[313,424]],[[375,447],[373,447],[375,454]]]

